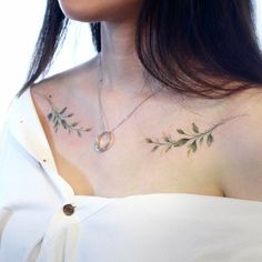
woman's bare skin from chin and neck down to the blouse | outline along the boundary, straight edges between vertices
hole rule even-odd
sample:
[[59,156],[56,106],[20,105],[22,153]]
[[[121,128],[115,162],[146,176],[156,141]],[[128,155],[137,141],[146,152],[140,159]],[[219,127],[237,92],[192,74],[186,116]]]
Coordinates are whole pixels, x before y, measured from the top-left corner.
[[[143,67],[133,44],[134,22],[142,1],[59,2],[71,19],[102,21],[102,102],[112,129],[153,89],[152,82],[142,89]],[[261,153],[259,144],[262,144],[262,133],[258,131],[261,118],[252,110],[256,107],[259,112],[261,100],[249,99],[253,91],[215,101],[184,99],[161,91],[114,131],[111,149],[98,153],[93,150],[100,133],[97,62],[95,57],[31,89],[59,174],[75,194],[185,192],[262,199],[262,175],[259,175],[262,168],[258,169],[256,157],[251,159]],[[67,108],[67,113],[73,113],[67,123],[53,127],[52,107],[44,97],[57,109]],[[74,128],[90,130],[80,132],[81,135],[75,130],[69,134],[64,127],[75,122],[80,123]],[[212,128],[212,133],[208,133]],[[185,143],[168,151],[167,144],[154,148],[167,135],[175,141],[184,138],[181,130],[206,135],[201,145],[200,141],[193,144],[191,140],[190,148]]]

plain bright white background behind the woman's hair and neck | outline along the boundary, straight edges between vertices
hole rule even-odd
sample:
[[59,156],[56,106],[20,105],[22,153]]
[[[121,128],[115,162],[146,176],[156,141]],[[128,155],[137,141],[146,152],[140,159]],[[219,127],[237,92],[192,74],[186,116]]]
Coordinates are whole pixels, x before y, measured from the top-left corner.
[[[0,0],[0,128],[6,110],[26,80],[41,28],[47,0]],[[262,47],[262,0],[254,0],[256,30]],[[259,16],[260,14],[260,16]],[[88,23],[71,21],[69,37],[48,75],[95,56]]]

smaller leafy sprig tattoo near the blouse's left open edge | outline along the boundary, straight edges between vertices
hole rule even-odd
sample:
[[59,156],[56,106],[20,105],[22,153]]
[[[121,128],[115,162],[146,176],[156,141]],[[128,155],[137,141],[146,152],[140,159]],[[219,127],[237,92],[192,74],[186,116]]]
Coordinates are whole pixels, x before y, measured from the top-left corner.
[[91,128],[78,128],[79,122],[69,123],[68,119],[73,117],[73,113],[68,113],[68,108],[64,107],[61,110],[59,110],[57,107],[54,107],[53,102],[51,101],[51,95],[44,98],[48,100],[49,104],[51,105],[51,112],[47,115],[48,120],[53,123],[53,129],[56,133],[58,132],[58,128],[62,127],[64,130],[68,131],[69,134],[71,132],[75,132],[79,138],[82,137],[81,132],[89,132],[92,129]]

